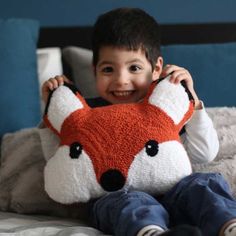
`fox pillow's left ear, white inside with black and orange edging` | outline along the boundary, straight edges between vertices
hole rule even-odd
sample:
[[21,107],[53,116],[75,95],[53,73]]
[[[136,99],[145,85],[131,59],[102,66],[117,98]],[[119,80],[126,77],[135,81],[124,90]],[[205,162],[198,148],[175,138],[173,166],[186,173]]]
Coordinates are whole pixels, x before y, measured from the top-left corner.
[[60,133],[64,120],[78,109],[89,108],[83,97],[74,86],[64,84],[52,91],[49,96],[44,121],[56,132]]

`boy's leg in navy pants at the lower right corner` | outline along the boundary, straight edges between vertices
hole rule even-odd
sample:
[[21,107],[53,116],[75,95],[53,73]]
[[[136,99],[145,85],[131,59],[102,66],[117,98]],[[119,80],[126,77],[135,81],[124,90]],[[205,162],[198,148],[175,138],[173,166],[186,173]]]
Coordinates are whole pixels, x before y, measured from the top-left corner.
[[218,173],[194,173],[185,177],[161,202],[171,222],[196,225],[204,236],[219,235],[226,222],[236,219],[236,201]]

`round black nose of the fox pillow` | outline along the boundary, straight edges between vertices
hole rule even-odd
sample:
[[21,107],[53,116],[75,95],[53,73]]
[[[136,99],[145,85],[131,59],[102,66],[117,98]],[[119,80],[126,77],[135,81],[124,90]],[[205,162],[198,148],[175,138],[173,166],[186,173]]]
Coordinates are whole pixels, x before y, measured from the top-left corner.
[[119,190],[124,186],[125,177],[119,170],[108,170],[102,174],[100,183],[104,190],[112,192]]

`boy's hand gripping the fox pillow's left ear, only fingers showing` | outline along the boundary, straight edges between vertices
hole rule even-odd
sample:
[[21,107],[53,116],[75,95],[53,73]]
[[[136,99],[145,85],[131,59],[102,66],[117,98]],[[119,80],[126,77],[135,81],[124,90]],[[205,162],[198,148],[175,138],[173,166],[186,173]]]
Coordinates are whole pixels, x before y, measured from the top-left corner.
[[53,78],[48,79],[47,81],[45,81],[43,83],[43,86],[42,86],[42,97],[43,97],[43,101],[45,102],[45,104],[48,101],[48,96],[49,96],[50,91],[58,88],[60,85],[63,85],[64,82],[72,83],[64,75],[57,75],[57,76],[55,76]]

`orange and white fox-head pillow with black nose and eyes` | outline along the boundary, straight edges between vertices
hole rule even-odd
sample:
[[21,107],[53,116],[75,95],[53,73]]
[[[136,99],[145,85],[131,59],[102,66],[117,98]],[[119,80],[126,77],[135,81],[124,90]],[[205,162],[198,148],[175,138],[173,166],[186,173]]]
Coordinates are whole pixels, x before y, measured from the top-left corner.
[[45,190],[64,204],[124,187],[162,194],[192,171],[179,132],[193,100],[169,77],[139,103],[90,108],[70,86],[51,94],[44,120],[60,138],[45,166]]

